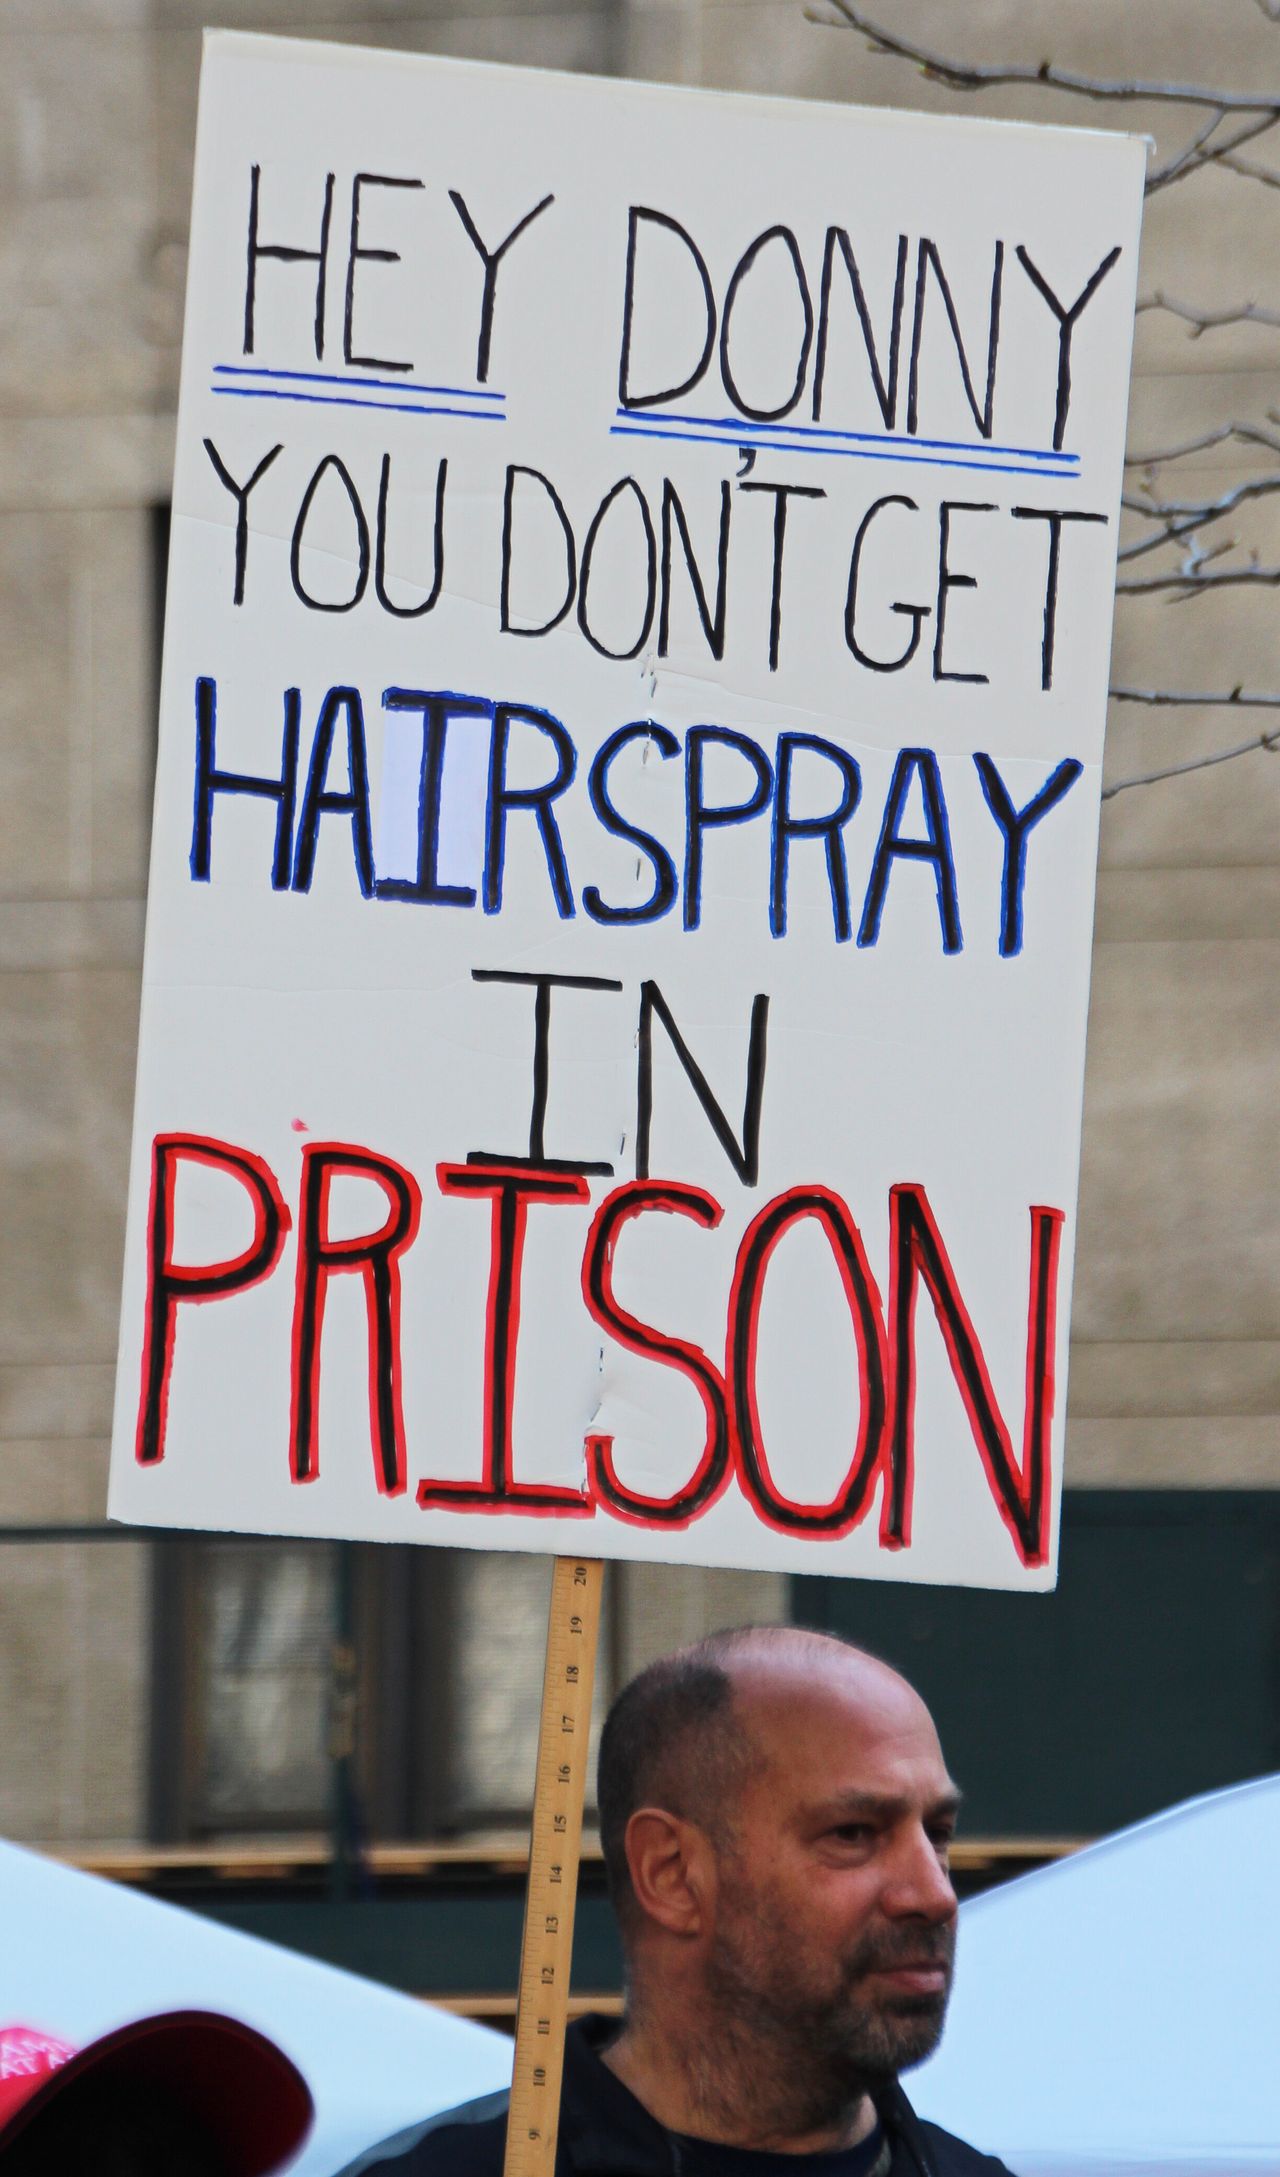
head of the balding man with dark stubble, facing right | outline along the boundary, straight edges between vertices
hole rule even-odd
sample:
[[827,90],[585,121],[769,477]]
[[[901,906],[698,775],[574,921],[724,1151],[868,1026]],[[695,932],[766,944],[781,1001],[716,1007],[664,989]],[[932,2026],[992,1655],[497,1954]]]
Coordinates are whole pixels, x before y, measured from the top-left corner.
[[714,1635],[642,1672],[601,1742],[636,2009],[803,2075],[814,2120],[938,2042],[956,1787],[919,1694],[845,1641]]

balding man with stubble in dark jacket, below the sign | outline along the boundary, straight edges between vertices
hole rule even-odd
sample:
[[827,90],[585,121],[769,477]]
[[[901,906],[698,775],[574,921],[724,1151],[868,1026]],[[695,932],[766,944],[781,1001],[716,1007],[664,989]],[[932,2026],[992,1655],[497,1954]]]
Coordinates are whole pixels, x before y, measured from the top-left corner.
[[[1004,2170],[897,2083],[947,2012],[956,1805],[919,1694],[845,1641],[742,1628],[633,1678],[599,1768],[625,2016],[570,2027],[557,2177]],[[490,2099],[359,2166],[501,2177],[503,2147]]]

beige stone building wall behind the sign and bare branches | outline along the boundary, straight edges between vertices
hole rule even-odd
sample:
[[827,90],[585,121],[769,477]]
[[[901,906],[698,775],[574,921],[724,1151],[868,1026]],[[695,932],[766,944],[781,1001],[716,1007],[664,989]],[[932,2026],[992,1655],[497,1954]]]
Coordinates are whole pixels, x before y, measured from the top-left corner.
[[[0,9],[0,1526],[104,1515],[159,538],[207,13],[209,0]],[[816,26],[801,0],[222,0],[213,13],[235,28],[542,67],[1099,120],[1152,128],[1158,152],[1186,133],[1184,115],[1152,104],[1082,111],[1032,89],[967,104],[871,57],[851,30]],[[1280,28],[1250,0],[1165,0],[1158,11],[895,0],[886,13],[980,59],[1034,63],[1051,50],[1117,78],[1247,87],[1276,78],[1280,63]],[[1210,307],[1241,296],[1276,305],[1276,192],[1230,172],[1154,198],[1143,290]],[[1273,329],[1191,342],[1184,327],[1143,316],[1134,446],[1260,420],[1278,398]],[[1247,448],[1215,446],[1180,472],[1199,496],[1254,468]],[[1250,514],[1265,564],[1280,559],[1271,507],[1263,499]],[[1134,601],[1121,612],[1115,677],[1273,690],[1273,594],[1241,588],[1213,607]],[[1117,708],[1108,771],[1128,779],[1239,738],[1239,718],[1223,714],[1169,723]],[[1125,790],[1104,810],[1067,1439],[1075,1487],[1280,1485],[1278,819],[1280,762],[1263,753]],[[172,1678],[168,1644],[216,1650],[220,1611],[244,1633],[242,1572],[224,1589],[183,1589],[165,1620],[146,1541],[0,1543],[0,1833],[128,1840],[155,1827],[157,1672]],[[536,1624],[540,1576],[531,1567],[525,1587],[503,1581],[507,1635],[525,1648],[538,1646],[520,1628]],[[483,1565],[472,1578],[483,1585]],[[294,1635],[322,1609],[287,1583],[272,1607]],[[616,1581],[612,1668],[725,1618],[784,1611],[781,1583],[631,1572]],[[459,1698],[492,1683],[488,1661],[457,1648]],[[274,1694],[270,1668],[259,1678],[263,1744],[283,1713],[272,1698],[290,1683],[285,1663]],[[205,1698],[209,1750],[218,1702],[239,1715],[233,1657]],[[318,1715],[324,1687],[298,1698]],[[490,1715],[494,1746],[507,1744],[507,1711]],[[305,1768],[305,1748],[298,1759]],[[483,1746],[475,1761],[483,1770]],[[235,1792],[222,1805],[216,1785],[198,1807],[207,1827],[272,1816]],[[485,1794],[481,1776],[475,1805]],[[276,1816],[287,1811],[283,1792]]]

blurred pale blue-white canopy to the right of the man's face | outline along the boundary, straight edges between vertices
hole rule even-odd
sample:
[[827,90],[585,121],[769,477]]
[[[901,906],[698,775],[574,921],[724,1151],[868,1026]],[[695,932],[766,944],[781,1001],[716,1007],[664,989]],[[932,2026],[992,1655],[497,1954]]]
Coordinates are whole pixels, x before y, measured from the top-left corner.
[[919,2114],[1019,2177],[1278,2170],[1278,1824],[1260,1776],[969,1898]]

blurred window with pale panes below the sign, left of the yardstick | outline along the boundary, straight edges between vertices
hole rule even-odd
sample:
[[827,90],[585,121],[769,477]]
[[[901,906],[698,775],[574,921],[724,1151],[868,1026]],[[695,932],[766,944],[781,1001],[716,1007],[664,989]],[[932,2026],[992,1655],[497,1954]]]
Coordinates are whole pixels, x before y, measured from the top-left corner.
[[549,1591],[551,1557],[157,1537],[152,1840],[327,1829],[350,1696],[357,1840],[522,1824]]

